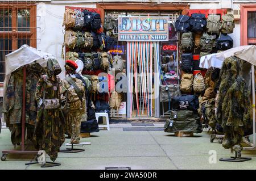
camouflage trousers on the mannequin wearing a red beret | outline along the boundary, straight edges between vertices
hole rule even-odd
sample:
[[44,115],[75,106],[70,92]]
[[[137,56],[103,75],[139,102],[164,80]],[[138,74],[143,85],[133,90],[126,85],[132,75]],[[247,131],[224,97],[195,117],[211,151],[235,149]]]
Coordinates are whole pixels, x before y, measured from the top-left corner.
[[69,111],[65,117],[65,132],[71,136],[71,144],[79,144],[81,111]]

